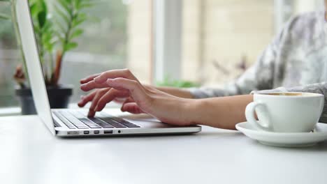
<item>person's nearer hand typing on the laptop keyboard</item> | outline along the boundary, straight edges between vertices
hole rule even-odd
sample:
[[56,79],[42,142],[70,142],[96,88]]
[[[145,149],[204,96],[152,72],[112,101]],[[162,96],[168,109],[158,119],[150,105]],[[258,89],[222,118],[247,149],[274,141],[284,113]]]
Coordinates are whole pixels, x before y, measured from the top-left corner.
[[122,112],[147,113],[160,121],[175,125],[192,124],[189,115],[194,100],[178,98],[152,86],[143,86],[129,70],[109,70],[80,82],[82,91],[96,89],[78,103],[83,107],[92,101],[89,116],[100,112],[112,100],[126,98],[122,104]]

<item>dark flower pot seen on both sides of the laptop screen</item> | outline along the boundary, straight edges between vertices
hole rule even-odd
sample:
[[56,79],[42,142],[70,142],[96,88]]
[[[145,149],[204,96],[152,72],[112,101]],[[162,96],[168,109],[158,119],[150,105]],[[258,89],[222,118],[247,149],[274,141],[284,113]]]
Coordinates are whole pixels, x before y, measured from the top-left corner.
[[[47,86],[47,92],[50,107],[52,109],[62,109],[68,107],[73,88],[71,86]],[[22,115],[36,114],[31,89],[16,89],[15,93],[20,100]]]

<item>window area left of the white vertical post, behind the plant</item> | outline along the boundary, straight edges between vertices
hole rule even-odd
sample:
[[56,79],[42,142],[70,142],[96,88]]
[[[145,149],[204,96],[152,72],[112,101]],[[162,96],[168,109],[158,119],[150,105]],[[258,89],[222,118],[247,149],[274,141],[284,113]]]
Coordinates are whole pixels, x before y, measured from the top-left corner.
[[[71,102],[82,95],[79,80],[87,75],[118,68],[131,68],[137,77],[150,82],[150,0],[99,0],[88,13],[85,33],[78,47],[64,58],[59,84],[74,86]],[[10,6],[0,2],[1,13],[10,15]],[[17,106],[15,98],[15,66],[21,62],[13,25],[0,20],[0,107]]]

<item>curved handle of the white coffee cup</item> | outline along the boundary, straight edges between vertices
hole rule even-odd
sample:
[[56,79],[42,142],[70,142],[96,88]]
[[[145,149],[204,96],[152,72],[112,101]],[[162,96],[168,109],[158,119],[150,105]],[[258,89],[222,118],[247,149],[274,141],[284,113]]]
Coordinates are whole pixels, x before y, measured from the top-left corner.
[[262,125],[262,123],[256,121],[256,118],[254,117],[254,112],[256,112],[256,107],[262,107],[264,111],[266,111],[266,105],[264,105],[263,103],[250,102],[245,108],[245,117],[247,118],[247,122],[250,125],[254,126],[255,128],[258,128],[259,130],[272,131],[269,121],[266,123],[266,125]]

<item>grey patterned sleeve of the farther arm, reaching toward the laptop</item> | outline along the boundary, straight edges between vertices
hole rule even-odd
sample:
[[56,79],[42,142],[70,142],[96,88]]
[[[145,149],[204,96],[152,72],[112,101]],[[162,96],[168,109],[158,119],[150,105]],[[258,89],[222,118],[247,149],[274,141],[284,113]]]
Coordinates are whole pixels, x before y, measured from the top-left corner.
[[194,98],[212,98],[228,95],[248,94],[253,90],[273,89],[273,76],[275,72],[275,60],[279,51],[284,30],[275,37],[272,43],[263,51],[254,66],[245,71],[238,79],[227,84],[222,89],[193,88],[189,89]]

